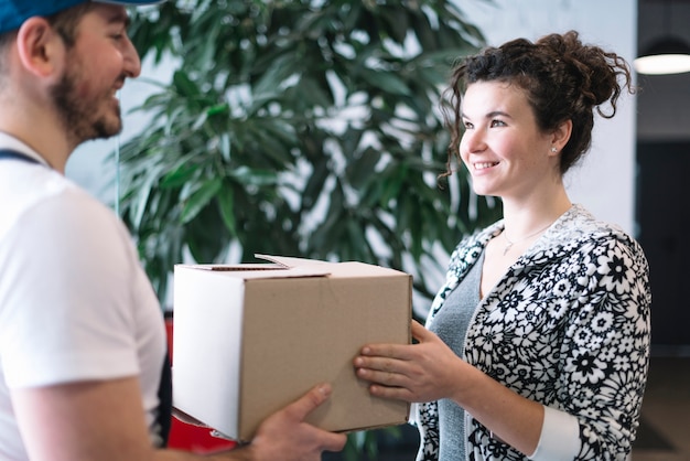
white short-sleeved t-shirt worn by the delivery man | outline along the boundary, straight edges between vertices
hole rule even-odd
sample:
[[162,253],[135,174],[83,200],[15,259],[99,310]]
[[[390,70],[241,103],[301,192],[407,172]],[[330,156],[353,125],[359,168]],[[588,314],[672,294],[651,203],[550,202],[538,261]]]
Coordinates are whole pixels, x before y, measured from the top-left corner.
[[[30,148],[0,133],[0,148]],[[9,389],[138,375],[153,427],[163,315],[117,215],[43,164],[0,160],[0,459],[25,460]]]

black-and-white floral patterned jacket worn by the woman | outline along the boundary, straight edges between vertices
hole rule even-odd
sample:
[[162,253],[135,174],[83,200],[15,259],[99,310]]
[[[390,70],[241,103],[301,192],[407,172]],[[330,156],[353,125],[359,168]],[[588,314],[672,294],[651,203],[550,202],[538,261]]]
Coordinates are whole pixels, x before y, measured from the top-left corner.
[[[498,222],[460,243],[428,324],[502,230]],[[650,303],[642,247],[573,205],[482,300],[463,358],[524,397],[575,416],[576,460],[624,460],[647,379]],[[436,460],[436,404],[419,404],[416,411],[418,461]],[[470,460],[528,459],[471,415],[466,436]]]

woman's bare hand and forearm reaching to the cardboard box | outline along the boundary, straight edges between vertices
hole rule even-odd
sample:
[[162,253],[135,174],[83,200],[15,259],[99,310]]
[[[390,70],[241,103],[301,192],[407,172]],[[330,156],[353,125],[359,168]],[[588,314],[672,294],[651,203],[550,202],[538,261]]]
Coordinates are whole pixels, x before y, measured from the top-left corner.
[[533,453],[543,407],[519,396],[460,358],[439,336],[412,321],[418,344],[368,344],[355,371],[371,395],[423,403],[450,398],[506,443]]

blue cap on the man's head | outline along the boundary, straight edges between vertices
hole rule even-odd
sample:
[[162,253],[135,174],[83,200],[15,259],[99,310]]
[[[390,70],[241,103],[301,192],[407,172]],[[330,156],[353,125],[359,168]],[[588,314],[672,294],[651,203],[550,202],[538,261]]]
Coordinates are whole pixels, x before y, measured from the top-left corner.
[[[0,33],[19,29],[31,17],[48,17],[89,0],[0,0]],[[162,3],[164,0],[90,0],[122,6]]]

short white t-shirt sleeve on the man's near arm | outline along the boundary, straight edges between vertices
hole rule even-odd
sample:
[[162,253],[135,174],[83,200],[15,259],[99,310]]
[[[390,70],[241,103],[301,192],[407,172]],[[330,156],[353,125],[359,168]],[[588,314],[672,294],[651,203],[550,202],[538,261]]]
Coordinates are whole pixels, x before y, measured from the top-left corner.
[[[30,207],[0,248],[0,360],[10,387],[136,375],[130,274],[117,216],[67,189]],[[134,254],[136,255],[136,254]]]

